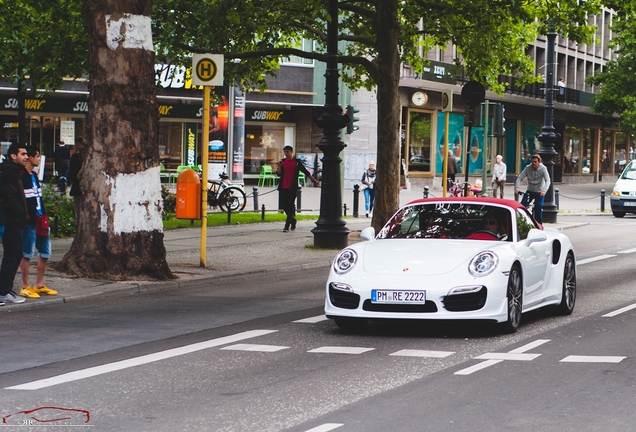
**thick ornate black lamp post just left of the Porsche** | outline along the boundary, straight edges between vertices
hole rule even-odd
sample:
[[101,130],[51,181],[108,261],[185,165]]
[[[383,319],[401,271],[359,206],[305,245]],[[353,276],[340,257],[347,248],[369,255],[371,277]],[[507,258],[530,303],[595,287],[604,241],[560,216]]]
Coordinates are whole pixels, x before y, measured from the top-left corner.
[[325,110],[316,119],[323,130],[318,143],[322,150],[322,188],[320,190],[320,217],[316,222],[314,246],[341,249],[348,244],[349,228],[342,218],[342,190],[340,175],[340,152],[346,144],[340,139],[340,129],[349,121],[342,114],[338,103],[338,0],[329,0],[327,12],[327,71],[325,72]]

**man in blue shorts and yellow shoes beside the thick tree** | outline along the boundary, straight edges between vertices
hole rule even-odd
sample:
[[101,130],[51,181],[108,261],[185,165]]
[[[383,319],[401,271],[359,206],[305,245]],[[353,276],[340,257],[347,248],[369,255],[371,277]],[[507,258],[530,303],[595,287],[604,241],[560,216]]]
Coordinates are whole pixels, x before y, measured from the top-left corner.
[[[34,146],[27,146],[27,156],[29,158],[22,171],[22,185],[24,186],[29,218],[23,231],[23,255],[20,262],[22,289],[20,295],[27,298],[39,298],[40,294],[55,295],[57,291],[44,285],[44,271],[46,263],[51,257],[51,237],[48,232],[46,235],[40,235],[36,230],[38,218],[46,215],[42,202],[42,187],[38,175],[33,171],[34,168],[40,166],[40,152]],[[29,286],[29,262],[33,258],[35,248],[38,250],[37,276],[35,285]]]

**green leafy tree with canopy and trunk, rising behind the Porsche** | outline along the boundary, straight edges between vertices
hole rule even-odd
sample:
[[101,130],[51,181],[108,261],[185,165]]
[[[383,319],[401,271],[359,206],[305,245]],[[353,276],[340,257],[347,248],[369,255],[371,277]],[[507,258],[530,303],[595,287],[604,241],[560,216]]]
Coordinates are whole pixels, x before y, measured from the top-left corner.
[[[263,85],[281,57],[325,61],[326,0],[155,1],[157,56],[188,64],[192,52],[224,53],[226,73],[245,87]],[[501,93],[500,75],[537,81],[527,44],[548,24],[573,41],[590,41],[591,0],[345,0],[339,1],[341,78],[351,89],[378,94],[378,185],[373,225],[379,228],[398,206],[399,66],[422,70],[434,46],[457,47],[459,65],[474,80]],[[295,49],[301,38],[315,52]],[[238,61],[240,60],[240,61]]]

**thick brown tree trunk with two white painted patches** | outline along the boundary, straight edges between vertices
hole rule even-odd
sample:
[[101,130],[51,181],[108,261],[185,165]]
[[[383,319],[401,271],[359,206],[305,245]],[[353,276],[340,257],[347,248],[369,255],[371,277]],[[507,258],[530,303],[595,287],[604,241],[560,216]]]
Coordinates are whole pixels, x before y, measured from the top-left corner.
[[90,97],[81,211],[57,266],[110,280],[173,278],[163,245],[152,0],[85,0]]

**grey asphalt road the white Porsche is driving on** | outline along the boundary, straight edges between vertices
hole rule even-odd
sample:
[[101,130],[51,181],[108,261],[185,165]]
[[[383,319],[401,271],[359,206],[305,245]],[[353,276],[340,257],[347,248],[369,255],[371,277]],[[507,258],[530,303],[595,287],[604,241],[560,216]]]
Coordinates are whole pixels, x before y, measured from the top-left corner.
[[36,413],[95,431],[630,430],[636,218],[569,218],[588,223],[566,231],[576,310],[526,314],[513,335],[342,333],[322,316],[325,269],[3,314],[0,416],[66,408]]

